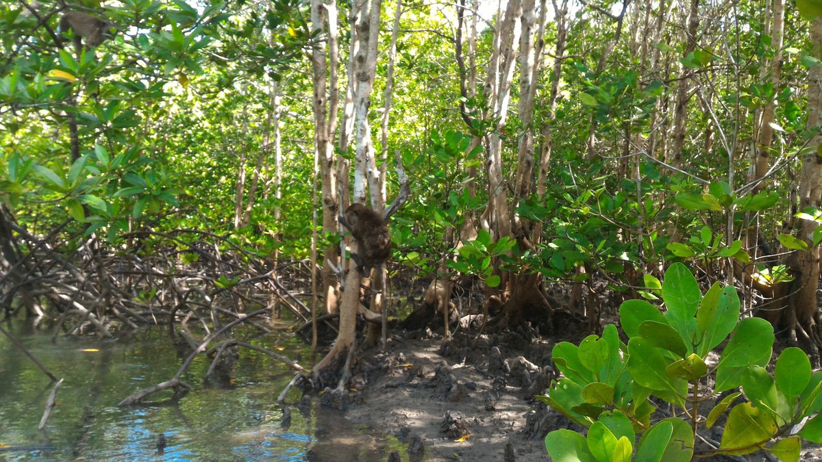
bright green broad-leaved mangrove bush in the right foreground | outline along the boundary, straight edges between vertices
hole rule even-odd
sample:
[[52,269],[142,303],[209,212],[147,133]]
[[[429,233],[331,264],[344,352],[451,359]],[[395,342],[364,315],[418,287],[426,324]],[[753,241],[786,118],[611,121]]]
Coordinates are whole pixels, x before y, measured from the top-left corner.
[[[806,353],[785,349],[774,373],[768,372],[774,328],[756,317],[740,321],[736,289],[715,283],[703,295],[681,263],[667,270],[661,292],[664,313],[644,300],[622,303],[627,344],[609,325],[602,337],[554,347],[554,363],[565,377],[539,399],[588,427],[587,437],[565,429],[548,433],[545,446],[554,460],[621,461],[634,455],[636,460],[690,460],[695,432],[713,427],[728,409],[718,448],[700,453],[745,455],[764,449],[780,460],[798,460],[801,438],[822,442],[819,415],[800,431],[793,428],[822,409],[822,372],[811,373]],[[709,353],[729,335],[718,363],[709,366]],[[714,375],[713,389],[704,386]],[[718,400],[707,417],[700,416],[707,410],[701,407],[718,393],[740,386],[741,391]],[[735,404],[743,393],[747,401]],[[652,423],[657,410],[652,396],[672,404],[681,417]]]

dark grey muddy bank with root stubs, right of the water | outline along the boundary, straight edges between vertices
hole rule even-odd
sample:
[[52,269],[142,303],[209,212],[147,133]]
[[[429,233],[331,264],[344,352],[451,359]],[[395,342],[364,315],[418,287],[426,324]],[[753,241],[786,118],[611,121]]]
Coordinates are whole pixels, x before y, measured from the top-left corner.
[[547,432],[574,426],[533,398],[553,377],[554,343],[533,330],[391,335],[386,352],[363,352],[350,401],[326,404],[408,444],[410,460],[547,460]]

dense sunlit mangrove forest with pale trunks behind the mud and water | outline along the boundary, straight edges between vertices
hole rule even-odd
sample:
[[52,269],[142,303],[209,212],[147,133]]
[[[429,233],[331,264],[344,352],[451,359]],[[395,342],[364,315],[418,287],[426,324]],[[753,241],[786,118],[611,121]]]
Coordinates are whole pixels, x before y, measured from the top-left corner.
[[[88,46],[69,12],[112,21],[105,39]],[[362,275],[335,274],[338,217],[359,202],[388,209],[388,279],[427,286],[428,318],[474,280],[488,329],[585,316],[601,332],[684,262],[818,363],[820,14],[816,0],[3,2],[2,316],[111,335],[191,298],[236,315],[279,293],[303,321],[339,312],[314,385],[344,390],[359,294],[341,286]],[[284,296],[284,267],[312,278],[312,311]],[[380,312],[385,273],[370,279]]]

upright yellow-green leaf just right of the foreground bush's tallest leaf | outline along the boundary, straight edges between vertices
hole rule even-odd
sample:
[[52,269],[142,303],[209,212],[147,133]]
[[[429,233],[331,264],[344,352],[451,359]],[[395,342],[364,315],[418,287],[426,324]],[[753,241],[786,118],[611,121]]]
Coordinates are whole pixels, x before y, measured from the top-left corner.
[[702,333],[698,349],[701,357],[721,344],[737,326],[739,306],[737,289],[733,287],[722,288],[721,284],[714,283],[705,293],[696,310],[696,326]]

